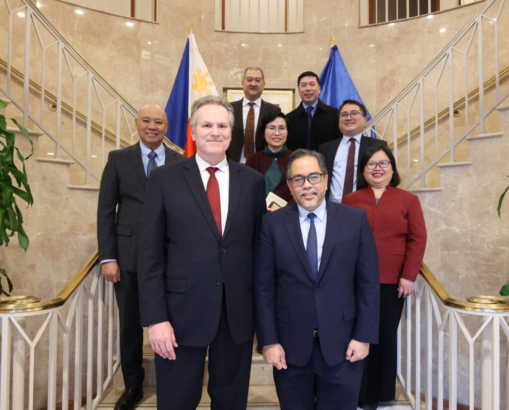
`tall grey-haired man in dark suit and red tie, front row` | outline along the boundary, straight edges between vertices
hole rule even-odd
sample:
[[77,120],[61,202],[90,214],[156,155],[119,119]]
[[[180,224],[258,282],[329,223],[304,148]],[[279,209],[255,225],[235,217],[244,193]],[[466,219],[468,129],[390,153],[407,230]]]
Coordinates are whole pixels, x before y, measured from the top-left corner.
[[197,152],[147,184],[138,258],[140,314],[155,354],[157,405],[200,403],[207,348],[212,409],[246,408],[254,334],[254,241],[262,174],[227,160],[234,122],[219,97],[196,100]]

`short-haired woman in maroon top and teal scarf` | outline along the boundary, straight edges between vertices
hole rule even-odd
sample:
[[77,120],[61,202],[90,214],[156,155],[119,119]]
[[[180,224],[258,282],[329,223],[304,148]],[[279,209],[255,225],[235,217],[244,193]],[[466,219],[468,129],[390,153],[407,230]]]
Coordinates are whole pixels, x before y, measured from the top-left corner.
[[260,132],[264,133],[267,145],[263,151],[249,155],[246,166],[265,175],[265,191],[273,192],[288,203],[294,202],[286,182],[286,164],[293,152],[285,143],[288,137],[288,122],[280,111],[268,112],[262,118]]

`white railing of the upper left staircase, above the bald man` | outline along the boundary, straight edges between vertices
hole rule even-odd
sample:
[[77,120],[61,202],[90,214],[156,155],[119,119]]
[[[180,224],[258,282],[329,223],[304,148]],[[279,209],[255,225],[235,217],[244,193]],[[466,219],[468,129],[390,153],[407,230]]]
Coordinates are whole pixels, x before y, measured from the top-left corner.
[[25,127],[30,120],[51,138],[56,159],[66,156],[83,168],[80,183],[98,185],[120,137],[133,143],[136,110],[32,1],[0,2],[0,34],[7,39],[0,42],[0,93],[19,109]]

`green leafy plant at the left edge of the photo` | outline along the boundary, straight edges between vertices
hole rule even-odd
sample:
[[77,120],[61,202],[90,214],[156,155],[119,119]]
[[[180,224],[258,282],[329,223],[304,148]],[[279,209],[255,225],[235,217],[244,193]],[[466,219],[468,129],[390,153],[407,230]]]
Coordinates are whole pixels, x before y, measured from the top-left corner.
[[[7,107],[6,102],[1,99],[0,107]],[[28,204],[27,207],[34,203],[34,198],[30,192],[30,185],[26,180],[24,164],[25,160],[29,159],[34,153],[34,143],[24,127],[21,127],[14,118],[10,118],[10,121],[29,140],[32,150],[28,156],[23,157],[19,149],[14,145],[16,134],[7,130],[7,118],[5,115],[0,114],[0,245],[5,243],[5,246],[7,246],[9,238],[17,233],[19,246],[26,252],[26,248],[29,246],[29,238],[23,229],[23,217],[16,203],[16,197],[25,201]],[[19,170],[14,163],[14,155],[20,161],[22,170]],[[2,285],[3,278],[7,281],[9,292],[12,292],[11,279],[9,279],[5,269],[0,268],[0,295],[9,296],[9,293]]]

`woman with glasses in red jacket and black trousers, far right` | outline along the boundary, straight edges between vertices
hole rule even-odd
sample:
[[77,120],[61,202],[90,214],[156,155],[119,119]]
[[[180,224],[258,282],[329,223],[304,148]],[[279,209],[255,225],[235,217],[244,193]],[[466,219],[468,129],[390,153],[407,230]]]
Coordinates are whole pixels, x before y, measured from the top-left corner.
[[357,169],[363,188],[342,203],[367,212],[380,268],[379,340],[364,359],[359,395],[359,406],[371,410],[379,401],[394,400],[398,324],[405,297],[414,291],[427,235],[419,199],[397,188],[400,176],[389,148],[373,145]]

